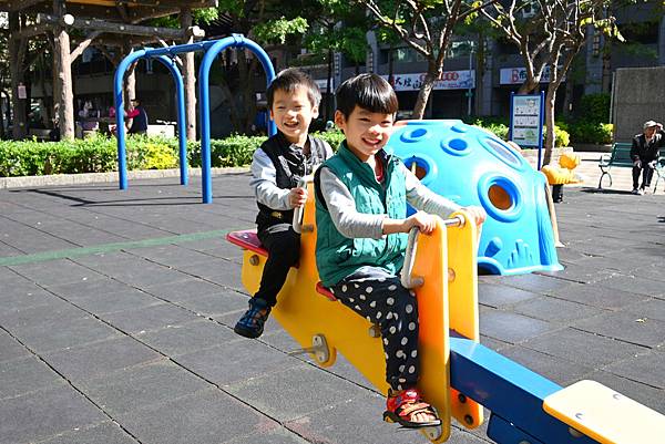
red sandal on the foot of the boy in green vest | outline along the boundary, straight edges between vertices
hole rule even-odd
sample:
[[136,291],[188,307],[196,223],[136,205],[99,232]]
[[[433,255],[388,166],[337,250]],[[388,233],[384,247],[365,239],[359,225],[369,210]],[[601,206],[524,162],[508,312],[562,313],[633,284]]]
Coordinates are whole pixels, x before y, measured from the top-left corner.
[[[418,413],[427,413],[436,420],[431,421],[410,421]],[[422,400],[417,389],[409,389],[395,394],[392,390],[388,392],[386,400],[386,411],[383,421],[389,423],[399,423],[407,428],[437,427],[441,425],[441,420],[434,407]]]

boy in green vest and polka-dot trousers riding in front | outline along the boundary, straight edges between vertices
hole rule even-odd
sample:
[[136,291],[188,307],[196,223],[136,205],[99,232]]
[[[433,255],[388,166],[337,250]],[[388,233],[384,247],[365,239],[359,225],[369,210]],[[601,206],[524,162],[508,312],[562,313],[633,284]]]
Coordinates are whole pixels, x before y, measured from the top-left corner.
[[[405,427],[437,426],[437,412],[417,388],[417,301],[398,273],[407,233],[418,227],[429,234],[436,227],[431,214],[448,217],[460,206],[430,192],[382,149],[398,110],[388,82],[360,74],[345,81],[336,97],[335,123],[346,141],[315,175],[319,276],[336,298],[381,330],[390,385],[383,419]],[[407,217],[407,202],[423,211]],[[482,224],[482,208],[466,209]]]

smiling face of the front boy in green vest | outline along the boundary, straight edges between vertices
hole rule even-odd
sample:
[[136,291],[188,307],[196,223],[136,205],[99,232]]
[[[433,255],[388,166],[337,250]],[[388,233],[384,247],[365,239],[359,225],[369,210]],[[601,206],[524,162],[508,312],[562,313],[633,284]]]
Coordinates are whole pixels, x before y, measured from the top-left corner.
[[359,106],[348,118],[340,111],[335,112],[335,124],[344,131],[349,149],[362,162],[388,143],[393,122],[392,114],[375,113]]

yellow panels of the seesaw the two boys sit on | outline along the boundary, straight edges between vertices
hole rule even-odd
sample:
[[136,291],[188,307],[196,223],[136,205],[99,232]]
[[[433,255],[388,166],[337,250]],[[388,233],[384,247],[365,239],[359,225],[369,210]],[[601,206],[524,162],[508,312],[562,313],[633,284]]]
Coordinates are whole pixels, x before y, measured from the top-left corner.
[[[303,347],[310,348],[316,335],[324,337],[328,348],[321,366],[335,363],[336,352],[346,359],[381,393],[388,392],[386,361],[380,337],[372,337],[372,324],[339,301],[330,301],[317,292],[319,281],[316,268],[316,226],[314,192],[308,185],[308,199],[303,219],[300,261],[293,268],[277,298],[272,316]],[[463,213],[460,213],[464,217]],[[468,217],[464,217],[469,220]],[[429,236],[420,235],[412,276],[424,278],[416,288],[418,298],[420,333],[419,355],[421,376],[419,388],[424,399],[439,412],[440,433],[431,430],[424,435],[434,443],[450,436],[450,417],[467,427],[477,427],[482,421],[482,406],[458,396],[450,389],[449,329],[479,340],[478,279],[477,279],[477,227],[446,227],[439,221]],[[448,251],[448,254],[447,254]],[[243,285],[250,293],[258,290],[266,257],[245,250],[243,258]],[[376,335],[376,334],[374,334]]]

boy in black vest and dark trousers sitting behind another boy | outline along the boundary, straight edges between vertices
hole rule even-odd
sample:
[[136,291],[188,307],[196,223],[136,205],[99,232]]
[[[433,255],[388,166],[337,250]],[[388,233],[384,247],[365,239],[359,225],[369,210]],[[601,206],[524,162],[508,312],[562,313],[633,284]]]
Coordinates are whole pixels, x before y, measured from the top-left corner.
[[298,262],[300,235],[291,223],[294,208],[307,202],[307,190],[297,187],[298,180],[332,155],[328,143],[308,134],[311,120],[318,116],[321,94],[306,73],[282,71],[266,95],[278,131],[254,153],[249,185],[258,205],[257,236],[268,250],[268,259],[258,291],[234,328],[245,338],[262,335],[288,270]]

